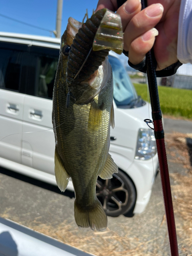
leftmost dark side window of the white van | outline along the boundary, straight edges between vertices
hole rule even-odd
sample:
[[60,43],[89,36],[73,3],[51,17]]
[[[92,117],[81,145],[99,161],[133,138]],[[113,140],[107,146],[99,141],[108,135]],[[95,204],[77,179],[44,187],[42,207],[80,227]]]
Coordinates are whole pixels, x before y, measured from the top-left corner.
[[29,61],[29,47],[0,42],[0,88],[22,91],[25,87]]

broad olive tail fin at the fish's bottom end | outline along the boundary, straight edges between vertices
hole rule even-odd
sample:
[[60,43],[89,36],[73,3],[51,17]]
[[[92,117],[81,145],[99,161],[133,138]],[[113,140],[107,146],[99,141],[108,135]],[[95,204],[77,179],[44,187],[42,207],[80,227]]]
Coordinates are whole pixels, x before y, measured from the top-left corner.
[[92,230],[103,230],[108,225],[108,219],[98,199],[94,206],[82,209],[75,200],[75,221],[79,227],[91,227]]

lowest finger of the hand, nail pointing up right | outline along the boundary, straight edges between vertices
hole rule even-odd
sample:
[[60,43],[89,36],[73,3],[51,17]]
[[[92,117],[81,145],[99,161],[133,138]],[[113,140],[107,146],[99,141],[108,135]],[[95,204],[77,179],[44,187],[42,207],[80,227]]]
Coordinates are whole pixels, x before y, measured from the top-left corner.
[[129,49],[129,60],[133,65],[139,64],[144,59],[145,54],[152,49],[157,35],[158,30],[153,28],[145,32],[142,36],[136,38],[131,43]]

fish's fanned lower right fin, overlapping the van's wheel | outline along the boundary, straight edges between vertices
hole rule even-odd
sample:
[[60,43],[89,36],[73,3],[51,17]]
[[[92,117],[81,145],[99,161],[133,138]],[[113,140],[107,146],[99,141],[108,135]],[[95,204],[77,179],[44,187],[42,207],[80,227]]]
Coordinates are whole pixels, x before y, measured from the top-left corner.
[[102,169],[101,174],[99,175],[101,179],[111,179],[113,176],[113,173],[118,173],[118,167],[116,163],[114,162],[113,158],[111,155],[108,155],[108,159],[106,160],[105,166]]

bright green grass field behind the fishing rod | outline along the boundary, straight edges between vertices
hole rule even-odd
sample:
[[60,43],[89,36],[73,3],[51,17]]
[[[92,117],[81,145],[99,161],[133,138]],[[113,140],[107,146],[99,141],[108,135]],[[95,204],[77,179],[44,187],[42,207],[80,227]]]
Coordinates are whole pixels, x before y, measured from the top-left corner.
[[[146,100],[147,85],[134,83],[137,94]],[[192,119],[192,90],[158,87],[161,111],[163,114]]]

